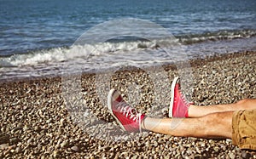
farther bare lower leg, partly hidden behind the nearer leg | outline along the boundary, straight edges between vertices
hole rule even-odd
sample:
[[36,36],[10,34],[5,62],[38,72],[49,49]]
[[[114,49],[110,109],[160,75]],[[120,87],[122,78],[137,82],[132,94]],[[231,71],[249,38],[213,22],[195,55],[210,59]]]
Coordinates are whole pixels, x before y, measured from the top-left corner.
[[235,104],[228,105],[209,105],[209,106],[189,106],[189,117],[206,116],[210,113],[237,110],[256,109],[256,99],[242,99]]

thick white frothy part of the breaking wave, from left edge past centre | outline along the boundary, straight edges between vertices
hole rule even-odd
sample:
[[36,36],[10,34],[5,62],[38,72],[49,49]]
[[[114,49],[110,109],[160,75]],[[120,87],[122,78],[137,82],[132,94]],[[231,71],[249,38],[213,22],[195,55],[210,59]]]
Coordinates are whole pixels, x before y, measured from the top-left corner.
[[74,59],[87,59],[91,56],[106,54],[125,54],[125,52],[154,49],[159,46],[156,42],[124,42],[124,43],[96,43],[94,45],[73,45],[70,48],[50,48],[32,51],[26,54],[14,54],[0,57],[0,67],[17,67],[22,65],[37,65],[41,63],[55,63]]

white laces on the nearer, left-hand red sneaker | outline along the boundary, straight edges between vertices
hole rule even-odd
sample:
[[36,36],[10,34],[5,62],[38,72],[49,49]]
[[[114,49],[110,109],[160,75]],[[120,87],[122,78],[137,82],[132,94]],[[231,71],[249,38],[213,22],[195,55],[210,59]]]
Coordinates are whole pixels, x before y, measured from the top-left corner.
[[117,107],[118,107],[118,110],[122,112],[124,116],[128,117],[134,122],[139,123],[139,130],[140,130],[140,133],[142,133],[142,127],[141,127],[142,113],[138,113],[137,110],[135,110],[134,108],[131,108],[131,106],[128,105],[126,102],[119,102],[119,104],[117,104]]

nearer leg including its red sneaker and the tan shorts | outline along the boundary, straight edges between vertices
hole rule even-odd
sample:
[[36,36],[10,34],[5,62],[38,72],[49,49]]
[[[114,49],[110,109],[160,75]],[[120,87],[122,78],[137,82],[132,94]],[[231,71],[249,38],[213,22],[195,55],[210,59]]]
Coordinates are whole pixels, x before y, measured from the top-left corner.
[[[245,99],[238,105],[251,109],[254,101]],[[138,113],[115,90],[108,94],[108,109],[120,127],[128,132],[145,129],[183,137],[230,138],[241,149],[256,150],[256,109],[216,112],[195,118],[159,119]]]

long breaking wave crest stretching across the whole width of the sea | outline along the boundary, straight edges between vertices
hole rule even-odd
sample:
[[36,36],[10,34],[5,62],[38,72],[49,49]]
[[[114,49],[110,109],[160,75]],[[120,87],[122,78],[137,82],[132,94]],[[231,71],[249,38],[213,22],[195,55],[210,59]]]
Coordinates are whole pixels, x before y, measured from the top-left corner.
[[67,60],[83,59],[90,61],[91,57],[104,57],[109,54],[121,55],[129,54],[132,51],[156,50],[159,48],[171,48],[173,45],[191,45],[195,43],[203,43],[207,41],[221,41],[236,38],[255,37],[256,30],[243,31],[216,31],[206,32],[200,35],[187,35],[172,37],[168,39],[155,39],[154,41],[147,41],[145,39],[128,41],[124,39],[119,41],[112,41],[106,43],[73,45],[65,48],[50,48],[38,51],[30,51],[26,54],[14,54],[9,57],[0,56],[0,67],[19,67],[22,65],[38,65],[42,63],[61,63]]

